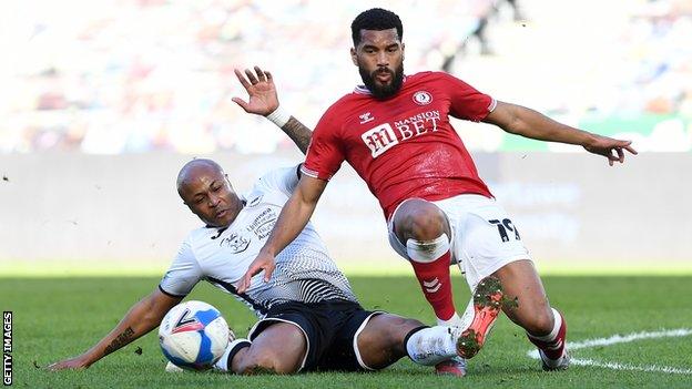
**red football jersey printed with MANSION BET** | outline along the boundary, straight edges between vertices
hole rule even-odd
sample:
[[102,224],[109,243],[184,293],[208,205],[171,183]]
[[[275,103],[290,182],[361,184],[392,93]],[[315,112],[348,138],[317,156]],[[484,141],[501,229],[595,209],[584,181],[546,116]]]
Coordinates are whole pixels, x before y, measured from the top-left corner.
[[358,86],[317,123],[303,173],[329,180],[346,160],[387,218],[406,198],[490,197],[449,115],[479,122],[495,105],[489,95],[442,72],[408,75],[385,101]]

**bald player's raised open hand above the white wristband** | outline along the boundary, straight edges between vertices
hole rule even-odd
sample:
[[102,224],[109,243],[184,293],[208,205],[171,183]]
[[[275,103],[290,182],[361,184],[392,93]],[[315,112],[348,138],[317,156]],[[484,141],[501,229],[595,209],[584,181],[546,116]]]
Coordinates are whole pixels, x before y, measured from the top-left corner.
[[244,74],[237,69],[234,72],[250,98],[248,101],[233,98],[231,100],[234,103],[238,104],[247,113],[263,116],[268,115],[278,108],[278,96],[276,95],[276,88],[269,72],[263,71],[260,66],[255,66],[254,73],[250,69],[245,69]]

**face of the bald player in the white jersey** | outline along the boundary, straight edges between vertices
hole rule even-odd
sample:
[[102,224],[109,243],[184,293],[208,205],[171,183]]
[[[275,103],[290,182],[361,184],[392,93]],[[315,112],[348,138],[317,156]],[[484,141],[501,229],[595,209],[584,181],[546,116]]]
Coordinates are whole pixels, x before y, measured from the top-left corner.
[[225,174],[212,167],[195,170],[180,195],[190,211],[213,227],[228,226],[240,211],[240,198]]

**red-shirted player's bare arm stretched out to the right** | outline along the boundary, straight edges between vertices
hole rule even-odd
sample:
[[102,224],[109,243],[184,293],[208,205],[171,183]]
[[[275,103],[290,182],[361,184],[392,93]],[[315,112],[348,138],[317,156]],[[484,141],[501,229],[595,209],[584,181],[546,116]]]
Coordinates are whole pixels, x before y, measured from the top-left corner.
[[583,146],[588,152],[603,155],[612,166],[624,162],[624,151],[637,154],[631,141],[601,136],[553,121],[526,106],[497,102],[497,106],[484,120],[517,135],[539,141],[560,142]]

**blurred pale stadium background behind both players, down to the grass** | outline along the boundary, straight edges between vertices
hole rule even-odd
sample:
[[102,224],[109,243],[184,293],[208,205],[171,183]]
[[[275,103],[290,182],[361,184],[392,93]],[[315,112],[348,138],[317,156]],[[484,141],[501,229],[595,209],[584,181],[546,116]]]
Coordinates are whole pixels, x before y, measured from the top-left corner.
[[[456,122],[541,273],[692,273],[692,2],[12,1],[0,14],[0,273],[161,274],[199,221],[174,180],[193,156],[238,191],[301,161],[231,96],[234,68],[275,75],[313,126],[359,82],[350,20],[404,21],[407,72],[444,69],[503,101],[641,155],[608,167],[579,147]],[[486,25],[485,39],[474,32]],[[348,166],[315,223],[349,272],[408,274]]]

